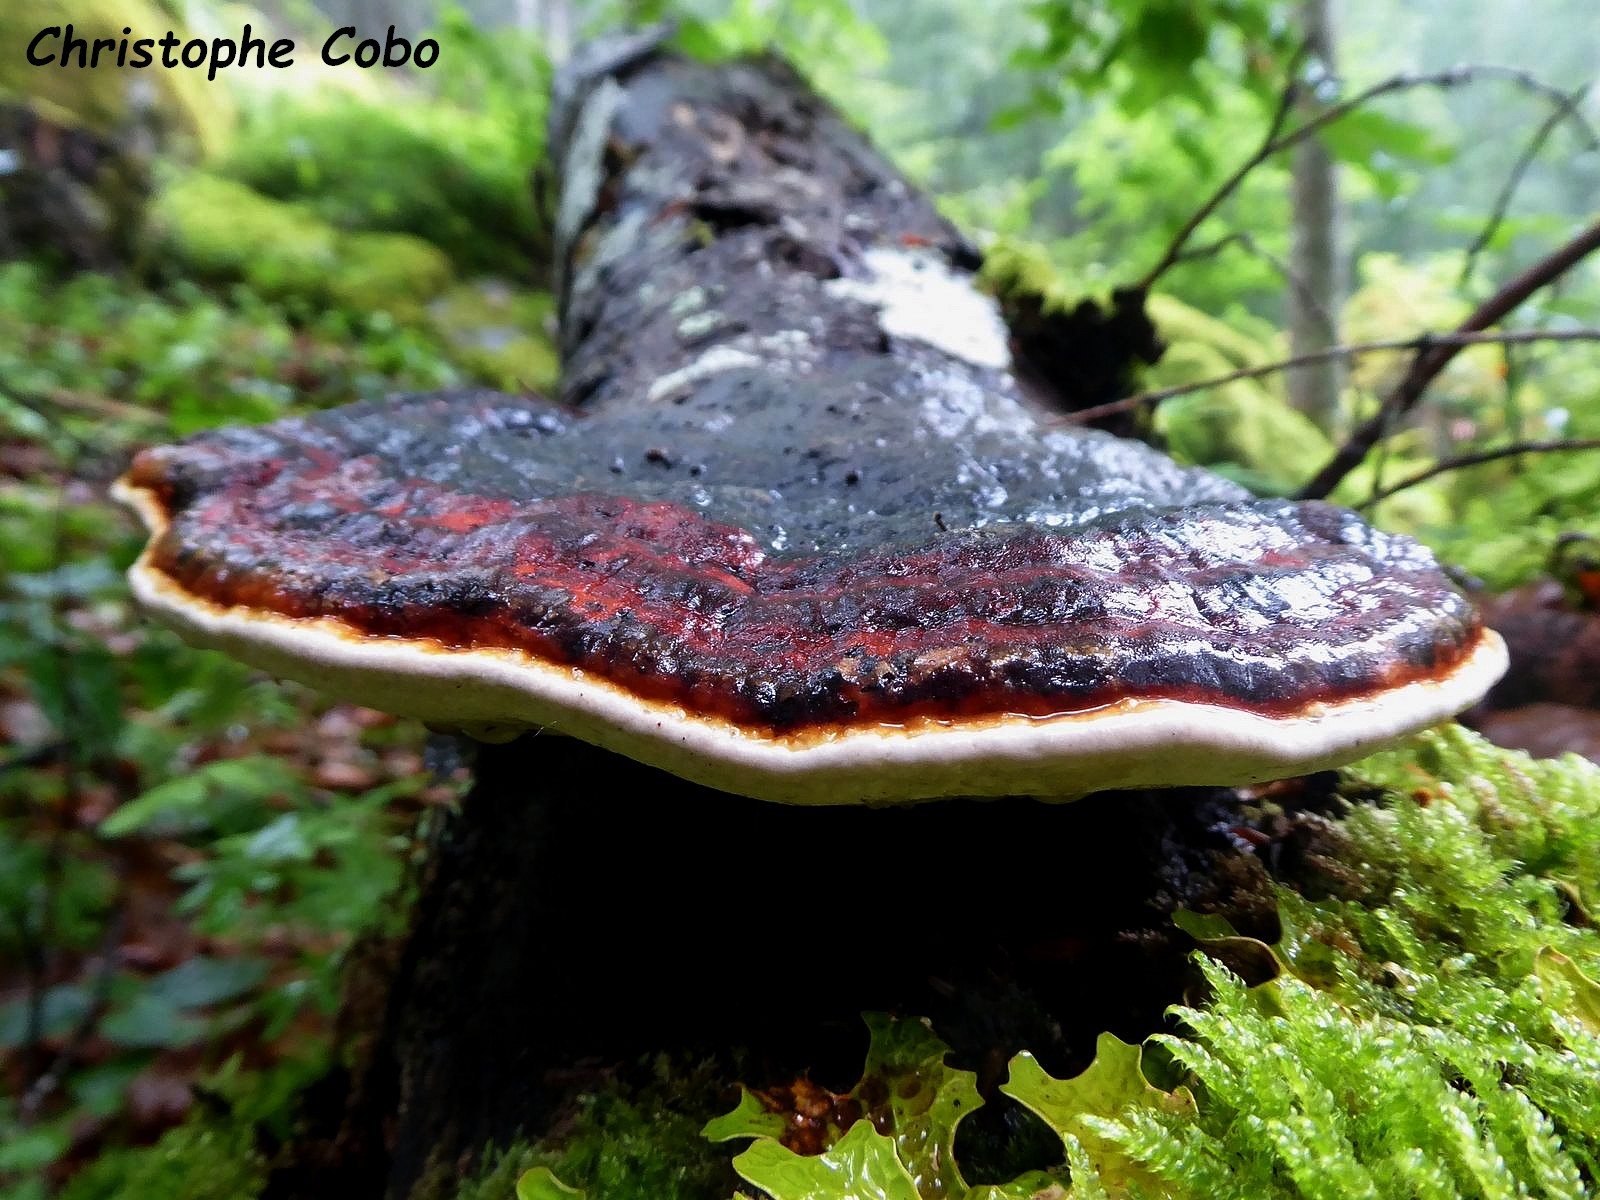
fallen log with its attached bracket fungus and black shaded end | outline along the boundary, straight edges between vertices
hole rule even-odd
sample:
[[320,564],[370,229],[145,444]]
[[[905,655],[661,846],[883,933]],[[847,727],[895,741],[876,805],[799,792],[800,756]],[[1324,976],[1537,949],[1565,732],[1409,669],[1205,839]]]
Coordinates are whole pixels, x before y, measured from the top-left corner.
[[613,43],[552,147],[560,406],[400,397],[125,482],[194,640],[574,734],[478,752],[320,1194],[416,1195],[650,1051],[848,1083],[866,1008],[1072,1074],[1178,998],[1174,944],[1117,934],[1232,886],[1227,794],[859,802],[1301,774],[1496,675],[1413,542],[1045,429],[973,246],[784,64]]

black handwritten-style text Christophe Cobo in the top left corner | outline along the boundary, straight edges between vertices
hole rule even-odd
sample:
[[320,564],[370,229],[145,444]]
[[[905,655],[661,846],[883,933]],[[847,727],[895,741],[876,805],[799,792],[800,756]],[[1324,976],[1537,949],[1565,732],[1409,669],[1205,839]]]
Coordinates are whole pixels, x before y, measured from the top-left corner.
[[[250,26],[245,26],[243,37],[203,38],[195,37],[184,42],[173,30],[163,37],[133,37],[133,29],[123,26],[122,37],[78,37],[72,26],[50,26],[40,29],[34,40],[27,43],[27,61],[35,67],[187,67],[189,70],[206,69],[206,78],[216,78],[216,72],[224,67],[293,67],[294,43],[280,37],[270,46],[264,38],[254,37]],[[438,43],[424,37],[413,46],[403,37],[395,35],[395,27],[389,26],[384,40],[374,37],[362,38],[355,26],[344,26],[333,30],[322,43],[322,61],[330,67],[341,67],[355,62],[358,67],[403,67],[411,62],[418,67],[430,67],[438,61]]]

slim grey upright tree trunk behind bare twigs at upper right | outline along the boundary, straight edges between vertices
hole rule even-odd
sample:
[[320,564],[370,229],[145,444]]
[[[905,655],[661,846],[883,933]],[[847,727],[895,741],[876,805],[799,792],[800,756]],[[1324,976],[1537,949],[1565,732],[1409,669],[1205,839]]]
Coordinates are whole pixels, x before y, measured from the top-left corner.
[[[1307,72],[1333,78],[1334,0],[1304,0]],[[1339,309],[1344,306],[1344,258],[1339,246],[1339,176],[1320,139],[1294,147],[1293,245],[1290,248],[1290,352],[1314,354],[1339,344]],[[1330,360],[1288,373],[1290,402],[1323,429],[1339,424],[1339,392],[1344,363]]]

